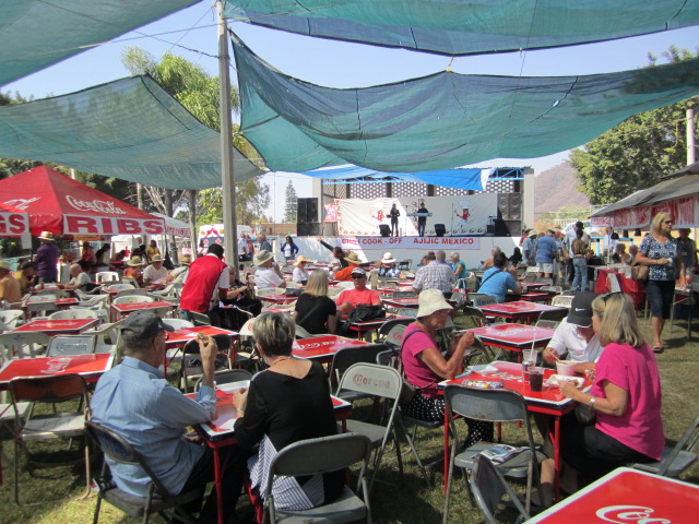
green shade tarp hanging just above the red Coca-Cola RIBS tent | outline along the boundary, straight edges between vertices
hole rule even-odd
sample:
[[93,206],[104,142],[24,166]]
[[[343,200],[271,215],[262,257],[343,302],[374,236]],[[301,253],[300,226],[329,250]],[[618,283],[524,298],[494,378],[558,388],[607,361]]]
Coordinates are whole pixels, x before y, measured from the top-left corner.
[[[262,171],[234,148],[236,181]],[[0,157],[169,189],[221,186],[221,138],[150,76],[0,107]]]

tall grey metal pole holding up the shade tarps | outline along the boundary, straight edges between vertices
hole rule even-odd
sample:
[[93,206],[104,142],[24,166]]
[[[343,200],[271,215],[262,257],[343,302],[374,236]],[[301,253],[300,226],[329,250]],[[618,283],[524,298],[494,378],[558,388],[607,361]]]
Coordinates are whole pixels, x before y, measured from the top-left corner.
[[230,121],[230,55],[228,53],[228,25],[223,15],[223,3],[216,2],[218,11],[218,82],[221,90],[221,186],[223,188],[224,248],[226,261],[238,266],[238,227],[236,223],[235,174],[233,171],[233,126]]

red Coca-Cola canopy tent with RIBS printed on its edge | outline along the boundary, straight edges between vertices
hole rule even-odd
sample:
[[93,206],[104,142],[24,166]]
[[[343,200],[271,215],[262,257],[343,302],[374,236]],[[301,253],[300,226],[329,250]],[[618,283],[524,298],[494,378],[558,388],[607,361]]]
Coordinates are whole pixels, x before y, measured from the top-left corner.
[[5,206],[29,215],[29,230],[54,235],[162,235],[162,218],[50,169],[35,167],[0,180]]

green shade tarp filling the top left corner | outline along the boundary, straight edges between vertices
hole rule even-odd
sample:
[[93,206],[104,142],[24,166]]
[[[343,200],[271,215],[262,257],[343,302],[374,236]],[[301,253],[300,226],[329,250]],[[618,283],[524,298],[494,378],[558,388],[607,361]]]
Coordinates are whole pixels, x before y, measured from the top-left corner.
[[2,0],[0,85],[193,3],[193,0]]

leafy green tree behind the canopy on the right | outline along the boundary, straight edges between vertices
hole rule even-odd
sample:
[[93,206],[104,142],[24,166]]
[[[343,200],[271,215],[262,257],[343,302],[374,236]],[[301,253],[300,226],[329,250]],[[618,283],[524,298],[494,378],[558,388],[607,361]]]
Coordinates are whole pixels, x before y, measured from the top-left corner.
[[[667,61],[691,58],[686,49],[671,47]],[[650,66],[657,58],[650,56]],[[592,204],[609,204],[661,181],[661,176],[683,167],[687,158],[685,119],[688,108],[699,108],[695,96],[672,106],[635,115],[599,138],[576,148],[570,162],[580,190]],[[698,134],[699,136],[699,134]]]

